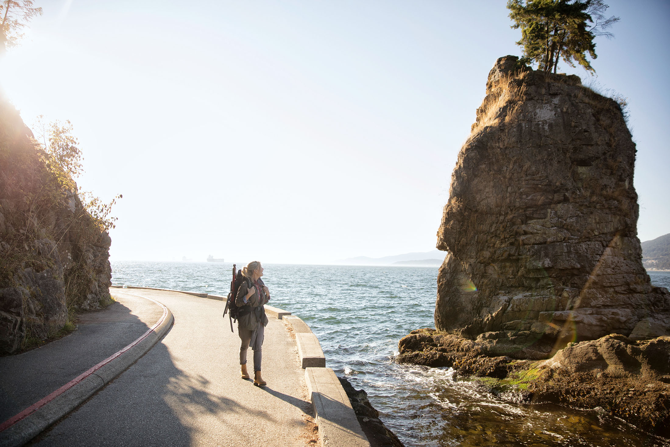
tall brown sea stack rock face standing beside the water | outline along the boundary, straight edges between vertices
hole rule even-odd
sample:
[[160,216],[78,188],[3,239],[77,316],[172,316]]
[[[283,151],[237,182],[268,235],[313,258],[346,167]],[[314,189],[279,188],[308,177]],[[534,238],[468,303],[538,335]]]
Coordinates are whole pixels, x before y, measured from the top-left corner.
[[636,236],[635,151],[614,100],[498,59],[438,231],[436,328],[531,358],[670,334]]

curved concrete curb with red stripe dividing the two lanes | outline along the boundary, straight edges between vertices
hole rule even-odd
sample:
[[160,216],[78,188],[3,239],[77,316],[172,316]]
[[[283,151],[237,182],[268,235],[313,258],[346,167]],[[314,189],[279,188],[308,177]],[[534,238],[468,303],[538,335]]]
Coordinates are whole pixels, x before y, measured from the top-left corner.
[[158,322],[119,352],[3,422],[0,425],[0,447],[22,446],[38,436],[145,355],[170,330],[174,322],[170,309],[151,298],[142,298],[163,308],[163,316]]

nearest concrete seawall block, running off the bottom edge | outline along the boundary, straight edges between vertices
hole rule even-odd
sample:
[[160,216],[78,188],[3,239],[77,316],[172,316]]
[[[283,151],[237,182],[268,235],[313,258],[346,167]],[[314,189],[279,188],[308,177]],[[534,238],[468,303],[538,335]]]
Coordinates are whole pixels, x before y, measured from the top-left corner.
[[305,382],[324,447],[370,447],[351,402],[330,368],[306,368]]

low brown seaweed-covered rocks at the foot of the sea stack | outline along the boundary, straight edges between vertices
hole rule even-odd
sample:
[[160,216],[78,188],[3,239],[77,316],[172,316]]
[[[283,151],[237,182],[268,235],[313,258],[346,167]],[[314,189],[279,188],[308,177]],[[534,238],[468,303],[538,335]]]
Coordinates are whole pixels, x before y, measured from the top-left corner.
[[[398,363],[453,367],[498,395],[527,403],[553,402],[604,413],[670,437],[670,336],[632,340],[610,334],[570,343],[551,359],[495,356],[486,340],[434,329],[403,337]],[[486,378],[486,379],[483,379]]]

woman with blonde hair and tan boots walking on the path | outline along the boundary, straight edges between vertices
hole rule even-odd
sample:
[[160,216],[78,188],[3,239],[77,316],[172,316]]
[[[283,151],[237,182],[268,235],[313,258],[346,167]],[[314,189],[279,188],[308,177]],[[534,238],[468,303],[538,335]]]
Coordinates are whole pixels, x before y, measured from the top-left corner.
[[240,346],[240,373],[243,379],[251,379],[247,372],[247,349],[253,349],[253,384],[257,387],[267,385],[261,377],[261,358],[263,356],[263,338],[267,316],[263,304],[270,300],[270,292],[263,283],[263,266],[253,261],[243,267],[245,280],[240,284],[235,297],[235,304],[240,308],[237,318],[237,333],[242,339]]

